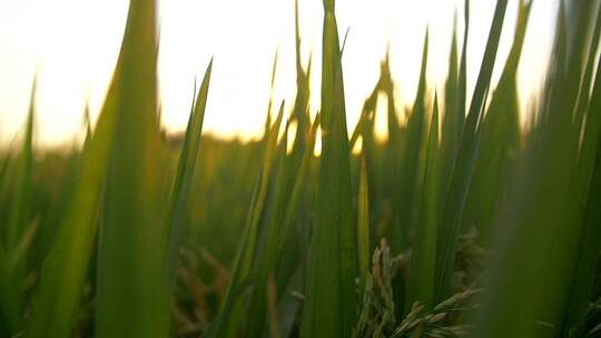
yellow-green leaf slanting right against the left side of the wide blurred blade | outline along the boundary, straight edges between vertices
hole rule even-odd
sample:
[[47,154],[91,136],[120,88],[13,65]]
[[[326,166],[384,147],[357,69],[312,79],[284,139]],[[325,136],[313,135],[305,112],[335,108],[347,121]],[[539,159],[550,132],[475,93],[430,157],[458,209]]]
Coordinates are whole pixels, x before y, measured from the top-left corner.
[[83,153],[71,206],[41,271],[27,337],[69,337],[75,326],[96,238],[98,208],[118,113],[122,62],[120,58],[96,131],[90,135]]

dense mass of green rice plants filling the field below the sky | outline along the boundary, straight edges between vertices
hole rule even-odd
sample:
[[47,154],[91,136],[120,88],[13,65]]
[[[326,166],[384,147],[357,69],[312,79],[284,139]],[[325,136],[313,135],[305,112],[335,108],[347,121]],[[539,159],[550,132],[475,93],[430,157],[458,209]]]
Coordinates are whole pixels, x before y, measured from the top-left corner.
[[601,337],[601,2],[560,3],[530,122],[516,74],[532,2],[497,0],[472,60],[466,0],[444,87],[427,81],[426,30],[410,107],[387,52],[351,129],[336,3],[311,111],[297,2],[296,99],[266,98],[263,138],[240,142],[203,135],[218,59],[186,131],[161,130],[156,3],[131,0],[82,145],[35,147],[33,84],[22,140],[0,151],[0,336]]

